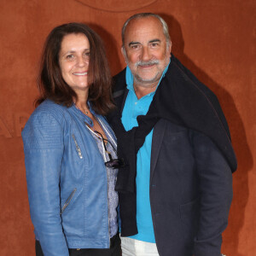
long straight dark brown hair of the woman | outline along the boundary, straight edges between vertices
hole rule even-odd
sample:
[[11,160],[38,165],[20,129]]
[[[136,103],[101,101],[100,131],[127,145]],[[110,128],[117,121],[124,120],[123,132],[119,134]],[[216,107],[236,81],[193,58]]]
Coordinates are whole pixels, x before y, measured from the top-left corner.
[[62,79],[59,64],[61,42],[68,34],[82,33],[90,44],[90,63],[88,83],[90,84],[88,100],[91,107],[99,114],[106,114],[113,108],[111,97],[111,74],[102,43],[102,39],[82,23],[68,23],[56,26],[44,44],[41,67],[38,76],[40,96],[36,106],[50,99],[57,104],[72,106],[73,98],[77,100],[75,91]]

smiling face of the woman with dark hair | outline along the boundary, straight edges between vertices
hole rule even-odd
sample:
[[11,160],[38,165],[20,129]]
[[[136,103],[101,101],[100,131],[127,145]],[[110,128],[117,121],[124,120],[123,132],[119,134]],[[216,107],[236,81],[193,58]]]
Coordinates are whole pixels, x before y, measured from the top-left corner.
[[84,34],[68,34],[62,39],[59,62],[62,78],[77,93],[88,91],[90,44]]

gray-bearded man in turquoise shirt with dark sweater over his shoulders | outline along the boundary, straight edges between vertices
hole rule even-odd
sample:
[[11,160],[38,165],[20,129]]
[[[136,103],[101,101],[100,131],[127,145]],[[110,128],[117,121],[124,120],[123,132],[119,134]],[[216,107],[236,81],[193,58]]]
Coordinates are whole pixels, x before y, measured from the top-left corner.
[[108,120],[125,160],[123,256],[219,256],[236,156],[218,100],[171,55],[159,15],[131,16],[122,40],[127,67],[114,78]]

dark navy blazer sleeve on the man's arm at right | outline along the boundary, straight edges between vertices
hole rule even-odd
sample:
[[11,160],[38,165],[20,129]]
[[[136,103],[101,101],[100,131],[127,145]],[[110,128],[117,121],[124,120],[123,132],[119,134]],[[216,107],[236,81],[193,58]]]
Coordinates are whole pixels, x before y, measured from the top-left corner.
[[193,147],[201,190],[195,256],[220,256],[222,232],[228,224],[233,195],[232,172],[210,138],[195,132]]

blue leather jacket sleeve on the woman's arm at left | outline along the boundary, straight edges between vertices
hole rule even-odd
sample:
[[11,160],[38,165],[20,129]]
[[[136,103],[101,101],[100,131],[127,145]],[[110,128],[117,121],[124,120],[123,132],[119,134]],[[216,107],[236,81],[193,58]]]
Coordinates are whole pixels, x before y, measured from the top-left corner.
[[68,256],[61,226],[60,173],[63,155],[61,120],[45,110],[32,113],[22,131],[32,224],[44,256]]

